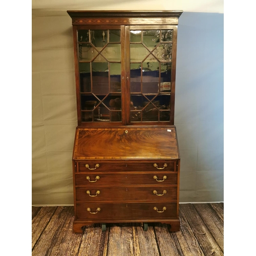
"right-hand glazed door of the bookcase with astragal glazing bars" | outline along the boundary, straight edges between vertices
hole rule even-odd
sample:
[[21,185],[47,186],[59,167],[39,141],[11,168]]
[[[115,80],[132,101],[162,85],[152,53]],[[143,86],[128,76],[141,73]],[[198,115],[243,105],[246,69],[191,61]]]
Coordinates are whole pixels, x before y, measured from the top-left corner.
[[126,123],[173,124],[177,26],[127,26]]

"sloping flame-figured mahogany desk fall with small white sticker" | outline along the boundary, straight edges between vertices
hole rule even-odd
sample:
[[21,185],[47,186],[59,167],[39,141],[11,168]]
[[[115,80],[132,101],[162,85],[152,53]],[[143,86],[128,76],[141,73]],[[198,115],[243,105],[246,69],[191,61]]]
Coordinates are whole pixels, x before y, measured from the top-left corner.
[[179,157],[175,126],[76,129],[74,160],[161,160]]

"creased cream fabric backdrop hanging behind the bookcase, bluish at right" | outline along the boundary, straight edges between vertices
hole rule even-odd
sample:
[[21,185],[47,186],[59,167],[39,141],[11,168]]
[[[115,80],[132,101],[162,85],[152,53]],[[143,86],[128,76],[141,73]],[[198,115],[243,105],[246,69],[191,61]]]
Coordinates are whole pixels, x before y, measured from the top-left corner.
[[[73,204],[77,113],[66,10],[32,11],[33,205]],[[180,201],[223,201],[223,14],[184,12],[179,19],[175,125]]]

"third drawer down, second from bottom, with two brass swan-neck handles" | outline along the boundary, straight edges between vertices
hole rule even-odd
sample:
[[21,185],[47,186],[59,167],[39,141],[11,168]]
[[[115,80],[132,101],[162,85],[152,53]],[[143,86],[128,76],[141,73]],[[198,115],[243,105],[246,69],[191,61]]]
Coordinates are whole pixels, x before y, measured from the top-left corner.
[[76,187],[76,201],[177,200],[177,186]]

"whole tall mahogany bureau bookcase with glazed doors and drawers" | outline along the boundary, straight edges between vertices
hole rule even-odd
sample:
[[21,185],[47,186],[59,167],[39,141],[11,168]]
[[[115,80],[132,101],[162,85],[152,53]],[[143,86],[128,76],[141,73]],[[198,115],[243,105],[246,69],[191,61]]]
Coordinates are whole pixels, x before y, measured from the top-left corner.
[[72,18],[78,126],[74,232],[100,223],[180,229],[174,125],[182,11],[67,11]]

